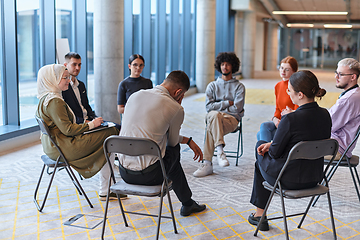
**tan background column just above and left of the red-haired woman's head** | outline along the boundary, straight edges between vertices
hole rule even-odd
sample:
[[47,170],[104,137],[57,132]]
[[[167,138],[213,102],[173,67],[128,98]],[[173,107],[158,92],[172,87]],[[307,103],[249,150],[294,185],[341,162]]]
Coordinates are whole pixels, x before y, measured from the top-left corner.
[[276,70],[278,63],[278,24],[267,23],[266,70]]

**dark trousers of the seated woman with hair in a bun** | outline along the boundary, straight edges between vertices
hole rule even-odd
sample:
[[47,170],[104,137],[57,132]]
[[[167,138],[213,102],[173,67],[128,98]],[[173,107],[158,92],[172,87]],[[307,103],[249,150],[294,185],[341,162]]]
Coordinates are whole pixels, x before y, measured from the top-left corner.
[[[265,141],[258,141],[256,143],[255,147],[255,156],[256,156],[256,162],[255,162],[255,172],[254,172],[254,182],[253,182],[253,189],[251,193],[250,203],[254,206],[264,209],[266,206],[266,203],[270,197],[270,191],[265,189],[262,183],[264,181],[267,181],[272,186],[274,186],[276,182],[276,177],[273,177],[269,174],[267,174],[260,166],[261,161],[264,159],[264,157],[268,154],[265,153],[264,156],[261,156],[257,153],[257,148],[263,144],[266,143]],[[283,189],[304,189],[304,188],[311,188],[315,187],[317,185],[317,182],[309,182],[309,183],[295,183],[295,182],[288,182],[288,181],[281,181],[281,187]]]

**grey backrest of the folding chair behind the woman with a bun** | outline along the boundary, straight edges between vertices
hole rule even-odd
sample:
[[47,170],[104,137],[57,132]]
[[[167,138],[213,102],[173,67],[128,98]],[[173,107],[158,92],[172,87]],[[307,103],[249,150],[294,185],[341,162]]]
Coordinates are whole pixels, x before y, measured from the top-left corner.
[[[336,156],[338,148],[339,148],[339,144],[335,139],[298,142],[291,148],[287,160],[278,175],[275,185],[278,184],[282,174],[284,173],[290,161],[296,159],[316,160],[321,157],[331,155],[332,156],[330,160],[331,163]],[[329,166],[330,164],[327,165],[324,172],[327,172]]]

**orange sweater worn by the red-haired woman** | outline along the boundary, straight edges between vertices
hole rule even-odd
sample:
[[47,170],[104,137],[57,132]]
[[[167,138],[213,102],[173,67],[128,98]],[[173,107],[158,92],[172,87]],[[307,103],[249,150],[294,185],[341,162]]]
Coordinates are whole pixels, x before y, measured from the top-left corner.
[[289,108],[296,110],[299,106],[293,104],[290,96],[287,94],[289,80],[280,81],[275,85],[275,97],[276,97],[276,108],[274,117],[281,119],[281,111],[288,106]]

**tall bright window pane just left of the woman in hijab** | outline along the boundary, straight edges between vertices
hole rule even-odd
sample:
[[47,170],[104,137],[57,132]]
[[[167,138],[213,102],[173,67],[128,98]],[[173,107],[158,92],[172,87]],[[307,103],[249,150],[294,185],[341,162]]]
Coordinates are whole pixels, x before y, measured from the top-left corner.
[[[40,68],[39,1],[17,0],[20,121],[34,118]],[[2,119],[1,119],[2,121]]]

